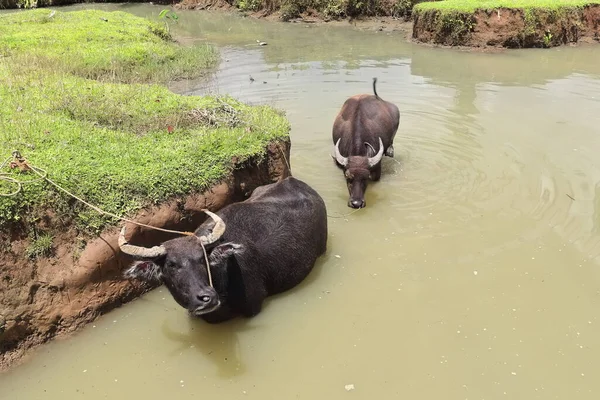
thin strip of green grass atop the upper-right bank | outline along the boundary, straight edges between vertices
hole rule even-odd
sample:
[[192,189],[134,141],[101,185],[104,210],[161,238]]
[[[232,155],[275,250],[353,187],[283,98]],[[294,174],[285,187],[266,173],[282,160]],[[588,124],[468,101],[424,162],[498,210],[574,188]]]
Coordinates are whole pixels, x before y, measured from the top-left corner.
[[415,5],[414,10],[453,10],[473,12],[478,9],[493,10],[501,7],[557,10],[563,7],[582,7],[588,4],[600,4],[600,0],[444,0],[419,3]]

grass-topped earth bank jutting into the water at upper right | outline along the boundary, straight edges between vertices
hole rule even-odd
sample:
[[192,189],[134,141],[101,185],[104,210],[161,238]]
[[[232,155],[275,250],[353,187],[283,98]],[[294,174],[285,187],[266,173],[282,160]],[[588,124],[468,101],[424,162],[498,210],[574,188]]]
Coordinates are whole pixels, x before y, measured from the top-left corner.
[[447,45],[551,47],[598,39],[600,0],[444,0],[413,8],[413,37]]

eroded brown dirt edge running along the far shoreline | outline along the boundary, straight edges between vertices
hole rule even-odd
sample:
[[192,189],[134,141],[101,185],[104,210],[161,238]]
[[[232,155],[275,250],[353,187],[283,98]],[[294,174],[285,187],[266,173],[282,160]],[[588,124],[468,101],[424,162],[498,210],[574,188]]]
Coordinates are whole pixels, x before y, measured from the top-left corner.
[[[420,3],[411,1],[410,5]],[[494,51],[502,48],[542,48],[600,42],[600,5],[558,10],[497,8],[474,12],[401,9],[387,5],[381,15],[331,18],[307,8],[289,18],[285,10],[261,3],[258,11],[240,11],[226,0],[182,0],[176,9],[236,12],[252,18],[291,23],[352,25],[360,30],[401,32],[407,41],[462,50]],[[269,6],[269,4],[271,4]],[[392,4],[392,3],[390,3]],[[394,3],[400,4],[400,3]]]

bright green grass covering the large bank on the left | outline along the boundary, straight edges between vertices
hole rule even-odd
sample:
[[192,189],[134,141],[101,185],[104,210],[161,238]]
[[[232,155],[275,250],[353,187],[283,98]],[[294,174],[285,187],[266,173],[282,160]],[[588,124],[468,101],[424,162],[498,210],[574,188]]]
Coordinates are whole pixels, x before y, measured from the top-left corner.
[[[214,48],[181,47],[164,24],[123,12],[50,9],[0,16],[0,164],[18,150],[50,179],[118,214],[208,188],[233,167],[287,137],[270,107],[228,97],[176,95],[170,79],[216,65]],[[44,213],[88,232],[112,221],[31,172],[0,196],[0,231]],[[0,193],[16,185],[0,180]]]

